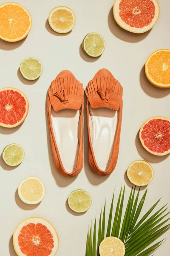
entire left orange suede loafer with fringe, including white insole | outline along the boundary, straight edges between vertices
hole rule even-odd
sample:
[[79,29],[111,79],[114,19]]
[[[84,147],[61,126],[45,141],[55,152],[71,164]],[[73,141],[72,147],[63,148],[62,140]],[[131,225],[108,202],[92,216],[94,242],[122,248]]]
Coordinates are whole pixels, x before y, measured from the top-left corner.
[[79,174],[83,166],[82,84],[64,70],[48,89],[47,111],[54,163],[65,177]]

